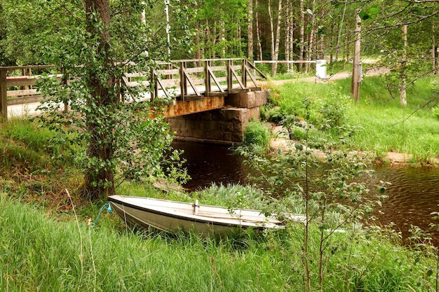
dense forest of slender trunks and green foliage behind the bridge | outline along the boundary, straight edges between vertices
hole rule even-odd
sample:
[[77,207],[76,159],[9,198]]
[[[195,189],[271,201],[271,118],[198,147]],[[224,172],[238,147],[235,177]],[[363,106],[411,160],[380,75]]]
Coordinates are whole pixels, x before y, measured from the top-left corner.
[[[119,1],[109,1],[111,16],[135,13],[139,25],[148,31],[145,48],[158,59],[349,62],[360,30],[362,56],[381,57],[386,67],[402,67],[409,59],[411,67],[419,68],[424,62],[438,66],[437,1],[123,2],[122,9]],[[83,10],[82,6],[82,1],[2,1],[0,65],[50,62],[49,48],[60,41],[66,27],[81,21],[75,11]],[[299,72],[310,70],[308,64],[295,66]],[[278,71],[276,64],[271,69],[273,75]]]

